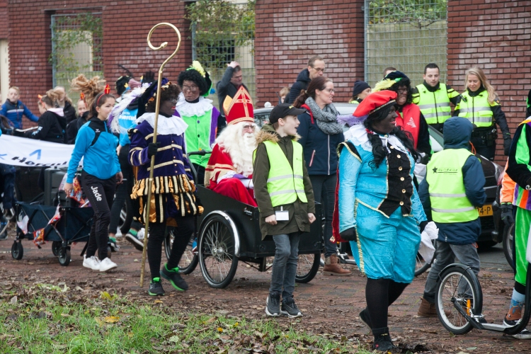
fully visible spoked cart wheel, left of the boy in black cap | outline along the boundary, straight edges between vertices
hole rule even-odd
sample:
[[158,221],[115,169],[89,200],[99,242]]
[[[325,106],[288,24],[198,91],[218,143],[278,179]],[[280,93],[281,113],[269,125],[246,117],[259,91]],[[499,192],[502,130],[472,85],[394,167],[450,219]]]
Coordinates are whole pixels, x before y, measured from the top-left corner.
[[234,252],[236,235],[222,215],[212,215],[203,225],[198,240],[202,276],[211,287],[227,287],[238,268]]

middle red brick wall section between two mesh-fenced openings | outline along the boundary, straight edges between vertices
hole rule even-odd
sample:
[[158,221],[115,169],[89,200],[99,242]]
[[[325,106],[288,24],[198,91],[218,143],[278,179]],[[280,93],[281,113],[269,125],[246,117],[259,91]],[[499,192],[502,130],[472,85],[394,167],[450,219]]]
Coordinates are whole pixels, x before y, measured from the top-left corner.
[[292,86],[309,57],[321,55],[325,75],[336,89],[335,102],[347,102],[363,72],[364,1],[256,1],[257,105],[278,102],[275,92]]

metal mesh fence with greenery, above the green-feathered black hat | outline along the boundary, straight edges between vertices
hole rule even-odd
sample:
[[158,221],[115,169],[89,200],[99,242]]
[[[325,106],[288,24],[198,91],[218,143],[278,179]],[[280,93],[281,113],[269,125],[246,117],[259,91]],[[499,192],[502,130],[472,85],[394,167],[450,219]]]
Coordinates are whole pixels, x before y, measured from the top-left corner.
[[[210,73],[212,87],[222,79],[227,64],[236,61],[240,64],[244,75],[244,84],[249,89],[253,102],[256,102],[256,71],[254,67],[254,8],[247,8],[248,2],[227,1],[227,6],[236,6],[236,11],[247,10],[248,14],[242,21],[241,17],[224,22],[222,30],[205,28],[201,23],[192,25],[192,57],[201,62]],[[227,21],[227,20],[225,20]],[[219,107],[217,92],[210,98]]]

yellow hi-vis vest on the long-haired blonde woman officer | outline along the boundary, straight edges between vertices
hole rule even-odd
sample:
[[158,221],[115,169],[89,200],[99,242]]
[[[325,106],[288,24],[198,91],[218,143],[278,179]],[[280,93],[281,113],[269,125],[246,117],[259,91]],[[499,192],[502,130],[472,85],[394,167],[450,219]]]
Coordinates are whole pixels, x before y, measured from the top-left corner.
[[461,93],[462,99],[455,107],[459,110],[459,117],[467,118],[476,127],[491,127],[493,125],[492,108],[499,105],[496,101],[489,103],[489,92],[481,91],[476,96],[470,96],[468,90]]

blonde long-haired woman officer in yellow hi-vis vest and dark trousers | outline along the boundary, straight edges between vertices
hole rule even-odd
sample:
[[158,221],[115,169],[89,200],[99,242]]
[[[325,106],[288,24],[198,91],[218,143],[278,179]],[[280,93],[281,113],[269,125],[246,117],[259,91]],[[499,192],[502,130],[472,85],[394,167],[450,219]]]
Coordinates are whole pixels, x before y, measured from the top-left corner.
[[491,161],[494,159],[497,124],[503,135],[503,153],[508,155],[512,140],[506,114],[501,110],[500,99],[483,70],[479,67],[468,69],[464,85],[467,91],[461,94],[461,101],[456,105],[454,115],[467,118],[476,126],[471,139],[476,152]]

